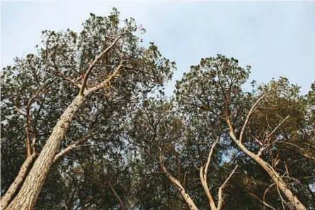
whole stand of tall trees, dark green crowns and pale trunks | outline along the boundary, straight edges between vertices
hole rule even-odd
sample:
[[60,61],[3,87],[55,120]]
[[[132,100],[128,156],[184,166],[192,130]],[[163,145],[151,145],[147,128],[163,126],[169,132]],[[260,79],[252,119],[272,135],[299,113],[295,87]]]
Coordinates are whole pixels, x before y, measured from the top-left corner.
[[42,31],[1,71],[1,209],[315,209],[315,82],[176,63],[133,18]]

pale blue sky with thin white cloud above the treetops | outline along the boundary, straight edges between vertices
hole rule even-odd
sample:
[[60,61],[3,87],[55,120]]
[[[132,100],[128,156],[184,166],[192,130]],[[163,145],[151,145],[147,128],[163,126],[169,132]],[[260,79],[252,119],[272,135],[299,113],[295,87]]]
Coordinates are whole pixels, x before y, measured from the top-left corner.
[[168,95],[190,65],[217,53],[251,65],[258,82],[288,77],[305,94],[315,81],[315,1],[1,1],[1,68],[34,52],[40,31],[79,31],[89,13],[114,6],[176,61]]

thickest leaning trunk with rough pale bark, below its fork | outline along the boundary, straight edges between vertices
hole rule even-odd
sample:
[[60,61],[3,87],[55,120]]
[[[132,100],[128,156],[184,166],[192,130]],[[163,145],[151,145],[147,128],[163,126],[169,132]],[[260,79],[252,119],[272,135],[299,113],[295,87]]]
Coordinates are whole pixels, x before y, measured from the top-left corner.
[[50,134],[50,138],[48,138],[47,143],[44,148],[42,148],[42,152],[38,156],[38,159],[34,162],[34,165],[28,173],[20,191],[8,205],[7,210],[26,210],[34,208],[35,201],[40,194],[42,185],[45,182],[55,155],[59,150],[62,139],[64,138],[64,135],[74,118],[74,114],[76,114],[79,110],[80,106],[84,102],[84,99],[86,99],[86,96],[84,95],[76,96],[74,101],[72,101],[72,103],[64,111]]

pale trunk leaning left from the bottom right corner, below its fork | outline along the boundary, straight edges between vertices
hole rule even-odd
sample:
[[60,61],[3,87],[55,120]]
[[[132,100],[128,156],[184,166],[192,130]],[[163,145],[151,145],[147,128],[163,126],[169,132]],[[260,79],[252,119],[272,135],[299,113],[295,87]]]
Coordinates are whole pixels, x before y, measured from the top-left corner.
[[258,155],[255,153],[252,153],[250,150],[248,150],[239,140],[236,140],[234,134],[230,133],[231,138],[234,140],[234,142],[239,146],[239,148],[246,153],[249,157],[253,158],[263,169],[268,172],[268,175],[273,179],[273,182],[275,182],[276,186],[280,189],[282,194],[285,195],[287,200],[289,201],[291,206],[294,206],[297,210],[306,210],[305,206],[297,199],[296,196],[292,193],[292,191],[287,187],[287,184],[283,181],[283,179],[280,177],[280,175],[273,170],[273,167],[271,167],[268,162],[265,162],[265,160],[261,159]]

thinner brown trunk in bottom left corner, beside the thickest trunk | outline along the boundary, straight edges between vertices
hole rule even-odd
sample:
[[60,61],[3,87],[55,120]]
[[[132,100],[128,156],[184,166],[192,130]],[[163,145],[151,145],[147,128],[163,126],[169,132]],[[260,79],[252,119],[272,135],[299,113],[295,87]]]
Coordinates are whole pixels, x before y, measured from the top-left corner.
[[35,159],[35,156],[36,156],[36,153],[33,153],[32,155],[28,156],[25,159],[25,161],[23,162],[23,165],[21,166],[20,171],[18,172],[18,175],[16,176],[16,179],[14,179],[14,182],[10,185],[10,187],[8,187],[6,194],[4,194],[3,197],[1,197],[2,210],[6,209],[6,207],[8,206],[8,203],[11,201],[13,197],[13,194],[16,193],[16,190],[24,181],[25,176],[29,170],[29,167]]

